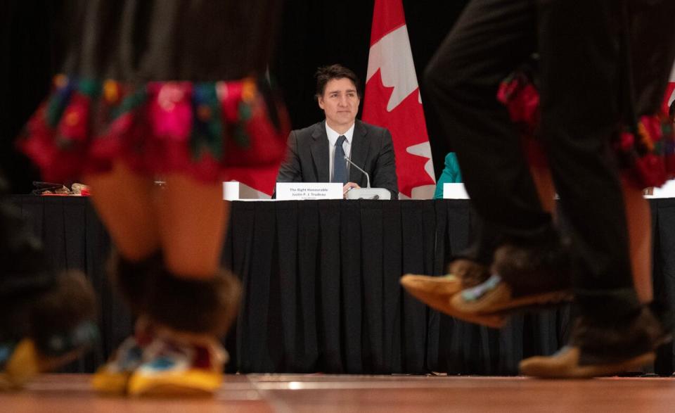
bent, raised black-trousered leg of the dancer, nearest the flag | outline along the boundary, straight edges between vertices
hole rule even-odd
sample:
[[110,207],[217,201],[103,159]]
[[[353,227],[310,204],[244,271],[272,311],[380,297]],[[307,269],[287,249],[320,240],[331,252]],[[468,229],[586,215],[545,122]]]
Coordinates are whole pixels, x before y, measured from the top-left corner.
[[500,82],[535,51],[535,30],[531,1],[471,1],[425,71],[428,100],[442,114],[444,136],[456,149],[466,189],[484,221],[487,234],[475,244],[486,265],[498,246],[495,234],[529,238],[551,228],[518,130],[496,99]]

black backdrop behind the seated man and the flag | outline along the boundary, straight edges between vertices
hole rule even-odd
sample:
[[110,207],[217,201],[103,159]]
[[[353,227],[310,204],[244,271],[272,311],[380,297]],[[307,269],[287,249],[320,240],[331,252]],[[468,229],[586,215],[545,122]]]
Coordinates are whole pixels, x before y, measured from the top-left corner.
[[[418,80],[468,0],[404,0]],[[271,75],[281,87],[293,127],[323,118],[314,101],[314,71],[342,63],[366,77],[374,0],[287,0]],[[0,168],[13,193],[27,193],[39,179],[13,148],[27,118],[49,92],[58,71],[63,29],[60,0],[0,1]],[[419,82],[420,85],[422,84]],[[424,99],[424,89],[422,89]],[[360,114],[359,114],[360,115]],[[449,147],[435,115],[425,108],[436,174]]]

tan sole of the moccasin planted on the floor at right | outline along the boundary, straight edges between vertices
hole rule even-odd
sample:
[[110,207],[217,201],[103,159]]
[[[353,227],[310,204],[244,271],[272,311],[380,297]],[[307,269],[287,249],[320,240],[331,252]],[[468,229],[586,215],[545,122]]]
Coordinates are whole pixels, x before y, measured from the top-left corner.
[[654,352],[648,352],[638,357],[633,357],[622,362],[607,364],[592,364],[588,366],[577,366],[559,369],[551,367],[549,364],[537,364],[548,357],[533,357],[532,360],[520,362],[520,374],[526,376],[539,377],[541,379],[590,379],[591,377],[612,376],[622,371],[633,371],[640,369],[647,364],[653,363],[656,355]]

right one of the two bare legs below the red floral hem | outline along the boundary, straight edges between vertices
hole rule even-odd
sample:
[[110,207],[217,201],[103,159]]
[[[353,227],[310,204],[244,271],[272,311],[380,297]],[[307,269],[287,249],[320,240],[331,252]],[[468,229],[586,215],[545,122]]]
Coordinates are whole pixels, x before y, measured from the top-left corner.
[[220,336],[238,309],[236,277],[220,269],[228,205],[222,186],[184,174],[165,176],[157,210],[164,265],[149,294],[157,340],[127,385],[131,395],[198,393],[219,388],[227,354]]

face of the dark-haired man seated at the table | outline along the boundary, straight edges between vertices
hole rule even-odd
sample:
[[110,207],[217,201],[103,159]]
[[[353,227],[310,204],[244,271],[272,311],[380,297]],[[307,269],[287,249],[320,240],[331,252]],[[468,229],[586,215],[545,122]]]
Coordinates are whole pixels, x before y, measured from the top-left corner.
[[329,80],[323,89],[323,96],[319,96],[319,108],[326,113],[328,126],[337,132],[342,132],[338,129],[352,126],[360,102],[356,86],[347,77]]

